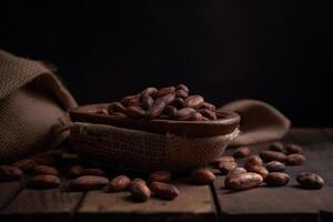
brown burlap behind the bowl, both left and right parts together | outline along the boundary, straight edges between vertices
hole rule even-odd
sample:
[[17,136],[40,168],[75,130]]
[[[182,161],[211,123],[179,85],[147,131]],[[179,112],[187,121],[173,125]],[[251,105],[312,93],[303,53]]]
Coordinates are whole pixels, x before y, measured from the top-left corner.
[[[64,113],[77,103],[40,61],[0,50],[0,163],[57,147],[68,137]],[[239,100],[222,107],[240,113],[241,134],[231,143],[245,145],[279,140],[290,121],[268,103]]]

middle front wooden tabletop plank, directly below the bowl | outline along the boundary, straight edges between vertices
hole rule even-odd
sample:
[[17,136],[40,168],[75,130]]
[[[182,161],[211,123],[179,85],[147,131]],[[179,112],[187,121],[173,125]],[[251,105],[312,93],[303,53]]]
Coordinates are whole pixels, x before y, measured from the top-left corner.
[[151,198],[133,202],[130,192],[91,191],[78,210],[79,221],[215,221],[215,209],[208,185],[175,184],[181,194],[173,201]]

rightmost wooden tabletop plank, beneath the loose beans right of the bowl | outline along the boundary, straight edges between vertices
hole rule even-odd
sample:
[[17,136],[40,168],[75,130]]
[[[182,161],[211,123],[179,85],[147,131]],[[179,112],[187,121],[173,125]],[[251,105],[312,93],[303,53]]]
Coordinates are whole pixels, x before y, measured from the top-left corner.
[[[296,130],[297,140],[304,145],[307,158],[304,165],[289,167],[291,181],[286,186],[232,192],[224,189],[224,176],[218,176],[214,183],[219,200],[221,221],[332,221],[333,213],[333,151],[332,142],[310,130]],[[302,140],[300,132],[306,134]],[[300,133],[300,134],[297,134]],[[311,140],[313,139],[313,140]],[[313,142],[314,141],[314,142]],[[326,142],[325,142],[326,141]],[[265,150],[268,144],[253,145],[252,151]],[[242,161],[241,161],[242,162]],[[297,188],[295,176],[301,171],[317,172],[326,184],[321,190],[303,190]]]

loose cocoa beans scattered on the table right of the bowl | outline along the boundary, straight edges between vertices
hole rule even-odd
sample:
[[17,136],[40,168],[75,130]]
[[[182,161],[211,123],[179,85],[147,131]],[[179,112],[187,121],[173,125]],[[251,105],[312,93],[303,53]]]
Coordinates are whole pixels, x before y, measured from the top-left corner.
[[[235,159],[245,158],[243,167]],[[303,149],[294,143],[272,143],[260,154],[252,154],[249,147],[238,148],[233,155],[223,155],[213,164],[225,175],[224,186],[232,190],[258,188],[262,183],[268,186],[285,185],[290,175],[284,171],[289,165],[301,165],[305,161]],[[300,172],[296,176],[300,188],[320,189],[324,180],[312,172]]]

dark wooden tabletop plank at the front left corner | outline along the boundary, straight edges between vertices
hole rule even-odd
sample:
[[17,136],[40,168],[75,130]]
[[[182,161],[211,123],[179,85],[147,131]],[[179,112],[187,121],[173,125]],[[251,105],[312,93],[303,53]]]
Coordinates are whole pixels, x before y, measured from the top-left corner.
[[81,192],[23,189],[1,212],[0,221],[71,221]]

